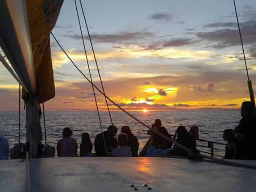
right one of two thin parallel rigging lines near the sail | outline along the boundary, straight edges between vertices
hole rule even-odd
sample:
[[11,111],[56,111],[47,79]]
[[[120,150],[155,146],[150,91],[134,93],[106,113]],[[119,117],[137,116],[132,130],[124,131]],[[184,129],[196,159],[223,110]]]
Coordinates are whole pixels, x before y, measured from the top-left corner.
[[112,117],[111,117],[110,110],[109,110],[109,106],[108,106],[108,101],[107,101],[107,98],[106,98],[104,86],[103,86],[102,79],[101,79],[101,75],[100,75],[100,70],[99,70],[99,67],[98,67],[98,62],[97,62],[97,60],[96,60],[94,48],[93,48],[93,45],[92,45],[92,39],[91,39],[91,36],[90,36],[89,28],[88,28],[88,25],[87,25],[87,22],[86,22],[85,14],[84,14],[84,8],[83,8],[83,5],[82,5],[81,0],[79,0],[79,1],[80,1],[80,5],[81,5],[81,8],[82,8],[83,16],[84,16],[84,22],[85,22],[85,24],[86,24],[86,29],[87,29],[88,37],[89,37],[90,44],[91,44],[91,47],[92,47],[92,53],[93,53],[94,60],[95,60],[95,63],[96,63],[96,67],[97,67],[97,70],[98,70],[98,74],[99,74],[99,78],[100,78],[100,83],[101,83],[102,90],[103,90],[103,93],[104,93],[104,96],[105,96],[105,101],[106,101],[106,105],[107,105],[107,108],[108,108],[108,114],[109,114],[109,117],[110,117],[111,124],[113,125]]

